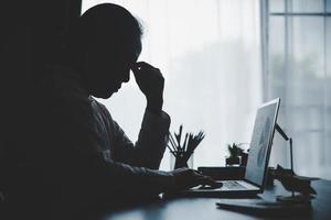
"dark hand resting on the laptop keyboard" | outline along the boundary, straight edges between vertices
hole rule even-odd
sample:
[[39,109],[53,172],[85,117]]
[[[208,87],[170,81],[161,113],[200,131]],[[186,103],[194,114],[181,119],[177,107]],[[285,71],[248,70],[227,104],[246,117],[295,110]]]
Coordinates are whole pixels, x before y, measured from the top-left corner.
[[185,190],[199,185],[220,187],[220,183],[216,183],[210,176],[204,176],[194,169],[179,168],[170,173],[173,177],[173,186],[171,187],[171,191]]

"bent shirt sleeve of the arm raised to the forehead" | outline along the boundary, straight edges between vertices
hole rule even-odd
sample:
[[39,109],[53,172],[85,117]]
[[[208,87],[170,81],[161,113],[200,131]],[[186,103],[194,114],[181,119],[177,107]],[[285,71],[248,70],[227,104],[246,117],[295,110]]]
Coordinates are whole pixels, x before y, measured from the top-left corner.
[[157,116],[146,109],[136,144],[132,144],[116,121],[111,120],[111,123],[115,136],[114,160],[152,169],[159,168],[168,142],[168,113],[162,111]]

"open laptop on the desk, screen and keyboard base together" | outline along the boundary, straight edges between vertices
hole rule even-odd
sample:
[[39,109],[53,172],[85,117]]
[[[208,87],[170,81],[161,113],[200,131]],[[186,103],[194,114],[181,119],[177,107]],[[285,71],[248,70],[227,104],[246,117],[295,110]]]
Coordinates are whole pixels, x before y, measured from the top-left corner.
[[196,186],[180,195],[241,197],[263,193],[279,105],[280,99],[277,98],[257,109],[244,179],[222,180],[223,186],[220,188]]

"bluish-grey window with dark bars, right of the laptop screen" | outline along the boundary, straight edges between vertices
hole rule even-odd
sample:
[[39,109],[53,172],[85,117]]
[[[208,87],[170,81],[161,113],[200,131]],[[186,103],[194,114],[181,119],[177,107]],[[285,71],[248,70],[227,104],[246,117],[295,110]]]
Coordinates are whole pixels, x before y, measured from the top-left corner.
[[[295,172],[331,178],[331,0],[261,1],[265,99],[280,97]],[[289,165],[276,135],[274,163]]]

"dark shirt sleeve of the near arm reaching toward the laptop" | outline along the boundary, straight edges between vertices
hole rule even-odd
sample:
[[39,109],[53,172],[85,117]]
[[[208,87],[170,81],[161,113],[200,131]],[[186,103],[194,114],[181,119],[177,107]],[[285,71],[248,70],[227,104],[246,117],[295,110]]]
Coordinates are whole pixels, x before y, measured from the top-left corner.
[[[171,173],[129,165],[115,158],[105,160],[106,132],[95,127],[96,116],[89,99],[73,89],[72,84],[65,84],[68,86],[63,88],[64,82],[52,79],[50,84],[42,84],[45,86],[40,86],[34,97],[38,100],[33,108],[34,123],[31,124],[34,135],[26,167],[33,167],[32,174],[41,178],[36,186],[45,186],[47,191],[54,191],[54,196],[67,198],[71,195],[73,198],[83,197],[82,200],[87,196],[99,200],[103,196],[117,202],[167,191],[173,185]],[[100,122],[107,121],[100,118]],[[129,141],[119,127],[117,131],[124,139],[121,143],[129,147]]]

